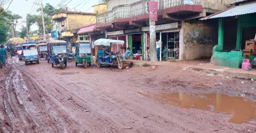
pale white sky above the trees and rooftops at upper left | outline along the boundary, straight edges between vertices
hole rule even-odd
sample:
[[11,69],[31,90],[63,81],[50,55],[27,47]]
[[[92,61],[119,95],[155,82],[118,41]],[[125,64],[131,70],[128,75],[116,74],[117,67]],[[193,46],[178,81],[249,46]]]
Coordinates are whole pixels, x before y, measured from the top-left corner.
[[[40,14],[39,12],[36,12],[36,9],[38,9],[39,5],[34,5],[33,3],[43,3],[45,5],[46,3],[50,3],[53,7],[59,8],[58,4],[60,2],[64,2],[63,4],[68,6],[69,9],[74,11],[73,8],[77,9],[77,11],[81,12],[93,12],[93,5],[98,4],[99,0],[13,0],[8,10],[12,11],[15,14],[19,14],[22,16],[23,19],[19,20],[19,23],[17,25],[17,30],[20,31],[20,28],[23,24],[23,26],[26,26],[26,15],[28,13],[30,14]],[[31,27],[31,30],[37,30],[38,27],[34,24]]]

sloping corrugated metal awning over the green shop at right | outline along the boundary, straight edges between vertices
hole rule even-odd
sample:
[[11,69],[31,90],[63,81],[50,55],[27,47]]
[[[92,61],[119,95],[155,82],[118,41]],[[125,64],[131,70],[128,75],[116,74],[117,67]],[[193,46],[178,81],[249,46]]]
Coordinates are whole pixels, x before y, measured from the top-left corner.
[[255,12],[256,12],[256,3],[246,3],[246,4],[230,7],[226,11],[223,10],[223,11],[214,13],[200,20],[224,18],[228,16],[244,15],[244,14],[255,13]]

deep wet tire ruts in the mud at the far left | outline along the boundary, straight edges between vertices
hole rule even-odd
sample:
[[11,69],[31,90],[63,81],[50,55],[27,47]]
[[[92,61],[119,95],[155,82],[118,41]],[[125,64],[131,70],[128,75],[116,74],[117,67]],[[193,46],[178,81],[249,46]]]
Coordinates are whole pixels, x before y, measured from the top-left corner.
[[[46,109],[47,98],[42,97],[41,92],[37,91],[36,86],[27,86],[25,84],[23,78],[26,81],[29,81],[29,79],[25,75],[22,76],[20,72],[22,66],[15,63],[15,57],[9,60],[8,63],[10,66],[9,74],[7,74],[5,79],[3,104],[5,114],[10,120],[10,123],[6,124],[12,123],[12,132],[78,132],[79,126],[72,128],[69,126],[70,122],[66,126],[62,124],[62,121],[67,121],[67,117],[61,119],[63,116],[67,116],[65,113],[55,112],[55,110],[51,110],[51,106]],[[36,92],[33,92],[35,90]],[[30,93],[35,95],[30,95]],[[33,103],[35,101],[38,102],[38,95],[41,97],[39,101],[43,100],[45,104],[42,104],[42,102]]]

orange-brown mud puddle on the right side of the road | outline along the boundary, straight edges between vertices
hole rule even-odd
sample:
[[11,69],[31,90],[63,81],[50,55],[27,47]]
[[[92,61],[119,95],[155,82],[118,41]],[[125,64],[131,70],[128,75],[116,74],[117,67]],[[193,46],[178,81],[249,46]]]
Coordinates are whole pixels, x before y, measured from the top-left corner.
[[255,124],[256,120],[256,102],[243,97],[230,97],[220,93],[198,94],[196,96],[180,93],[138,93],[162,104],[227,113],[231,115],[229,120],[231,123]]

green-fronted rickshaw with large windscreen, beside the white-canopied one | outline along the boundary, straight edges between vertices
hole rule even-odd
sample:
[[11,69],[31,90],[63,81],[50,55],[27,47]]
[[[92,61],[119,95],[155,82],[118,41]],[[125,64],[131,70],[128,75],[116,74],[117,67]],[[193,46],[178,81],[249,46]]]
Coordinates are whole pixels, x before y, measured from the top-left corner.
[[77,64],[83,64],[86,68],[87,65],[91,66],[91,44],[89,40],[79,40],[76,45],[76,66]]

